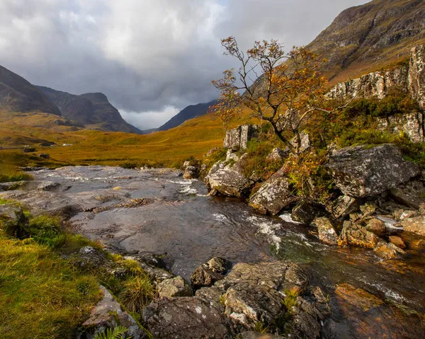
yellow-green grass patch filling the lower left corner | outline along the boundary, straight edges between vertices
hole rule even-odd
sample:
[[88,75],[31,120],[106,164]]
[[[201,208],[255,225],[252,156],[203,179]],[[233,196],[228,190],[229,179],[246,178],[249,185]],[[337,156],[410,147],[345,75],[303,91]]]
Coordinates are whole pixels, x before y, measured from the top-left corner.
[[3,338],[75,338],[100,297],[96,277],[72,270],[35,241],[0,233]]

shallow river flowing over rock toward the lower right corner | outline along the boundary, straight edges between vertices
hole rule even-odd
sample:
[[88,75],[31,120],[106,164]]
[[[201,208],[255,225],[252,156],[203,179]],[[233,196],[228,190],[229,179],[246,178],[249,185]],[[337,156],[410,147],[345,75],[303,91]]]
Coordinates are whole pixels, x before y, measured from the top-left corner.
[[[217,255],[233,263],[293,260],[310,272],[313,285],[329,293],[339,338],[424,338],[423,250],[383,261],[373,251],[326,246],[313,228],[285,215],[256,214],[240,200],[210,197],[202,182],[184,180],[177,171],[81,166],[35,176],[61,184],[52,196],[55,202],[45,204],[83,206],[86,212],[72,218],[75,227],[116,251],[166,254],[169,269],[186,279]],[[408,242],[419,239],[401,236]],[[339,289],[343,284],[364,289],[384,304],[369,307],[368,296]]]

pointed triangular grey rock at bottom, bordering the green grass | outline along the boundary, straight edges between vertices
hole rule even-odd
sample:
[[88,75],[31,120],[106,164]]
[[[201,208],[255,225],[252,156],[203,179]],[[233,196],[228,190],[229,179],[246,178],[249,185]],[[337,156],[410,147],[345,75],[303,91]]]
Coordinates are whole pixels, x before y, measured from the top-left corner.
[[103,298],[91,310],[90,318],[84,322],[79,338],[92,339],[97,333],[118,325],[128,328],[127,334],[133,339],[147,338],[135,319],[123,310],[108,289],[101,286],[101,291]]

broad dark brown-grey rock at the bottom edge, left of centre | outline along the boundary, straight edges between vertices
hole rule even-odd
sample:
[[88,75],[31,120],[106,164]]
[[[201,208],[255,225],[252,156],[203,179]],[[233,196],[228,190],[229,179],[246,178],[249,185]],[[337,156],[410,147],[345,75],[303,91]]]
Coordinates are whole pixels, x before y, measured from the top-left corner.
[[198,297],[161,299],[147,306],[142,318],[145,327],[157,339],[234,338],[220,308]]

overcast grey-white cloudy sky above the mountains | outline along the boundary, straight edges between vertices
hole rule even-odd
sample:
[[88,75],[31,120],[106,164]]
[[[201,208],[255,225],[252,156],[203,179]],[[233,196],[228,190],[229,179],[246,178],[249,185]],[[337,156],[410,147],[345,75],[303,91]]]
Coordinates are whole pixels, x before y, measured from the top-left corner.
[[[306,45],[366,0],[0,0],[0,64],[32,84],[103,92],[125,120],[159,127],[217,96],[234,67],[220,38]],[[288,48],[289,49],[289,48]]]

